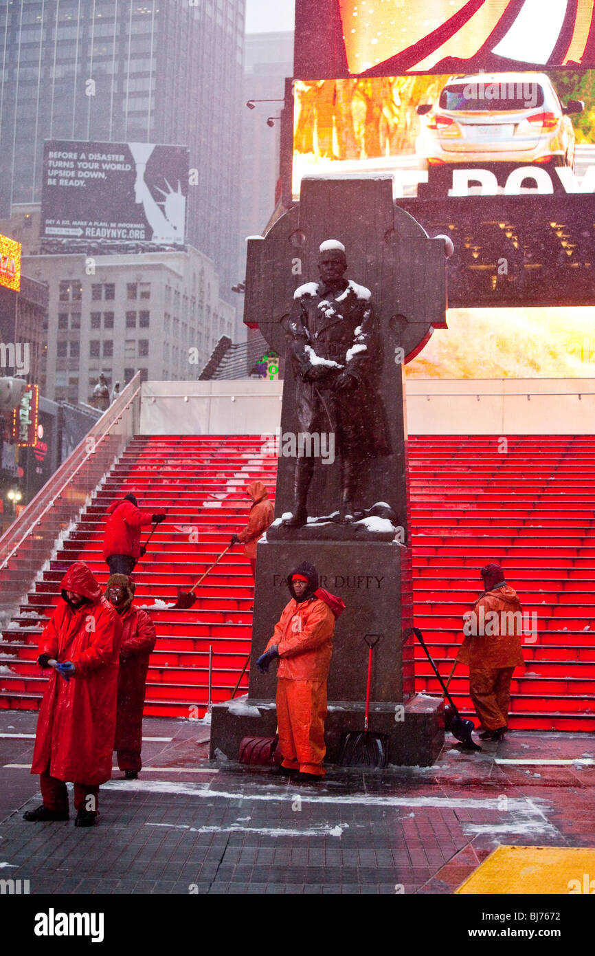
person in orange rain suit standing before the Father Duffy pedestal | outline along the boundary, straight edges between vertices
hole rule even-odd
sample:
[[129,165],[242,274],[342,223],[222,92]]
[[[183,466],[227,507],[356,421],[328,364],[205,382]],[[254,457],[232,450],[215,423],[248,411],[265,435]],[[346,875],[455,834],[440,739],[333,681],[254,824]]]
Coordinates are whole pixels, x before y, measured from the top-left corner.
[[327,677],[335,619],[345,608],[340,597],[318,587],[307,561],[287,577],[291,600],[284,608],[265,653],[256,665],[266,673],[279,658],[277,723],[283,763],[277,771],[300,782],[324,775]]

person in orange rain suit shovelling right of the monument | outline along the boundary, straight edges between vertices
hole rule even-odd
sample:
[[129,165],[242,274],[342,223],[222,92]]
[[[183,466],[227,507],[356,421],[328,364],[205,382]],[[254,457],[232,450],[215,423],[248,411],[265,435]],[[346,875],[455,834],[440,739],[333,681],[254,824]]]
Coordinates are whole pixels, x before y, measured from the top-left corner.
[[464,615],[457,661],[469,666],[469,693],[484,728],[480,740],[500,740],[508,727],[510,684],[521,653],[522,608],[499,564],[481,569],[483,594]]

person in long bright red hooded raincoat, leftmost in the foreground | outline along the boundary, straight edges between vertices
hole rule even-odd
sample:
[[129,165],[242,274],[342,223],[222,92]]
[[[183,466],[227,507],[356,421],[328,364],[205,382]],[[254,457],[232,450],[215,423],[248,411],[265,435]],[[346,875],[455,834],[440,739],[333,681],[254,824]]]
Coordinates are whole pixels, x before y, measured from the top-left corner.
[[96,822],[99,785],[112,776],[122,625],[82,561],[74,562],[60,587],[37,659],[50,672],[31,769],[41,775],[43,803],[25,819],[67,820],[65,781],[71,780],[74,823],[86,827]]

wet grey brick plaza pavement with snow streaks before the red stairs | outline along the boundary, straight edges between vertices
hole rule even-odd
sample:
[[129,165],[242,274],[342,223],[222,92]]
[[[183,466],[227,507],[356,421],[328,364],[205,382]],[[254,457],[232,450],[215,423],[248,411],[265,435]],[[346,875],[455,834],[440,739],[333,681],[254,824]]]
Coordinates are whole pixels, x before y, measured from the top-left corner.
[[2,877],[31,894],[452,894],[499,843],[595,845],[593,734],[520,731],[478,754],[447,735],[432,768],[329,768],[300,787],[209,762],[200,724],[148,719],[145,768],[114,771],[84,830],[72,808],[22,819],[40,802],[35,722],[0,713]]

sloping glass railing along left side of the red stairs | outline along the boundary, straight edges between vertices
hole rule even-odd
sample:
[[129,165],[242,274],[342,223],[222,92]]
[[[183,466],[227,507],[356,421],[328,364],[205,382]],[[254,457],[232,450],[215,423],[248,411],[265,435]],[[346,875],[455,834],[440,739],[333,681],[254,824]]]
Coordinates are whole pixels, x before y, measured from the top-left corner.
[[117,457],[138,432],[140,374],[97,420],[82,442],[0,538],[0,624],[18,610],[60,540]]

